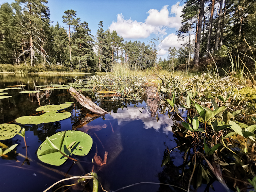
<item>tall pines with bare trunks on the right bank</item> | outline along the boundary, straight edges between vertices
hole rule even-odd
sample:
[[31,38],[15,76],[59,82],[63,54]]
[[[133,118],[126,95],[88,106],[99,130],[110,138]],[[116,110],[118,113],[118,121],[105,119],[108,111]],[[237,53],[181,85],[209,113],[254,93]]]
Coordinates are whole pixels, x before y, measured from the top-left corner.
[[255,0],[187,0],[178,36],[189,48],[195,36],[194,65],[198,65],[199,58],[218,55],[223,47],[239,47],[244,39],[255,47],[255,14]]

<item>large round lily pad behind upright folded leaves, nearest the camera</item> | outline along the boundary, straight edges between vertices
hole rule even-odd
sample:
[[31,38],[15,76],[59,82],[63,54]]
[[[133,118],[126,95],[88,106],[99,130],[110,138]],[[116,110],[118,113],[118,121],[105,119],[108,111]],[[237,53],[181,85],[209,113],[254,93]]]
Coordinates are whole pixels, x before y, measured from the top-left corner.
[[[52,141],[54,145],[59,146],[62,135],[63,132],[58,132],[49,137],[49,139]],[[66,131],[63,144],[61,146],[61,152],[67,156],[70,156],[70,152],[67,148],[70,145],[70,143],[74,141],[76,141],[76,143],[74,144],[73,148],[71,148],[71,152],[74,155],[85,156],[89,153],[90,149],[92,148],[92,138],[90,135],[81,131],[69,130]],[[65,163],[65,161],[68,159],[67,157],[63,156],[59,151],[40,156],[44,151],[49,149],[51,148],[45,140],[37,150],[37,156],[39,160],[47,164],[58,166]]]

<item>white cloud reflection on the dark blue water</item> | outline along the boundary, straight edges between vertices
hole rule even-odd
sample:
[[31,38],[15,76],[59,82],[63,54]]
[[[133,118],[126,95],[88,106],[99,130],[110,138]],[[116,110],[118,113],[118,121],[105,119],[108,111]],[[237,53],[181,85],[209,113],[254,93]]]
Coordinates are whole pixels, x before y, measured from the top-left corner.
[[[169,117],[158,114],[159,120],[157,122],[156,117],[151,117],[150,113],[148,113],[147,109],[142,109],[142,107],[133,108],[131,106],[127,106],[128,110],[124,108],[123,110],[121,108],[117,109],[117,113],[111,112],[111,116],[114,119],[117,119],[118,125],[122,125],[125,122],[130,122],[134,120],[141,120],[143,124],[145,125],[145,129],[154,128],[156,131],[160,129],[162,126],[163,132],[168,134],[168,132],[172,132],[172,119],[169,119]],[[140,111],[142,113],[140,113]]]

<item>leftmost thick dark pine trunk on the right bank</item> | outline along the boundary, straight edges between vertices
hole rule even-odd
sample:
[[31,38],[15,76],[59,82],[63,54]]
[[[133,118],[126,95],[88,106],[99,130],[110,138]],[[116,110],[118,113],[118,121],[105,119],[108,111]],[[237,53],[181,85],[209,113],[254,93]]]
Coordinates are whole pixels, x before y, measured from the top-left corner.
[[196,40],[196,45],[195,45],[195,57],[194,57],[194,65],[195,66],[198,66],[198,61],[199,61],[203,13],[204,13],[204,0],[201,0],[200,12],[199,12],[199,18],[198,18],[197,40]]

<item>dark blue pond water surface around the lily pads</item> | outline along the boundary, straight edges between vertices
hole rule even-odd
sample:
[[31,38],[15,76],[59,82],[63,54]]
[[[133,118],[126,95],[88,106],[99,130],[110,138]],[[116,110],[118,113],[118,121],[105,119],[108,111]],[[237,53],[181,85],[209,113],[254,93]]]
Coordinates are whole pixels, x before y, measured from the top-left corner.
[[[151,117],[147,110],[145,99],[141,102],[130,101],[127,108],[120,108],[121,101],[112,101],[109,98],[97,98],[89,95],[100,107],[109,111],[109,114],[99,117],[88,125],[92,129],[87,132],[93,139],[92,149],[87,156],[77,157],[80,164],[73,164],[72,160],[66,161],[61,166],[52,166],[39,161],[36,151],[47,136],[63,131],[72,130],[72,125],[82,119],[89,111],[74,100],[67,89],[43,91],[28,94],[19,91],[35,90],[36,85],[67,84],[70,75],[0,75],[0,89],[8,86],[24,84],[21,89],[8,90],[11,98],[0,100],[0,123],[8,123],[20,116],[29,116],[36,113],[36,108],[49,104],[61,104],[73,101],[74,104],[65,109],[72,116],[60,122],[24,126],[26,129],[26,141],[28,145],[28,157],[32,160],[23,163],[24,158],[9,153],[9,159],[0,159],[1,188],[0,191],[43,191],[54,182],[69,175],[79,176],[92,171],[92,158],[98,148],[98,155],[103,159],[105,151],[108,151],[107,164],[94,168],[103,188],[117,190],[119,188],[140,183],[155,182],[177,185],[187,190],[190,174],[185,180],[179,181],[182,169],[184,151],[186,145],[174,149],[171,153],[171,162],[168,166],[161,167],[166,148],[174,148],[182,141],[173,134],[174,120],[167,115],[159,114],[159,121]],[[79,76],[83,78],[83,76]],[[26,84],[29,83],[29,84]],[[106,125],[104,125],[106,124]],[[95,128],[94,128],[95,127]],[[104,127],[104,128],[102,128]],[[79,130],[79,129],[78,129]],[[26,149],[22,137],[16,135],[12,139],[1,141],[7,146],[19,143],[17,153],[26,155]],[[67,182],[68,183],[68,182]],[[182,184],[181,184],[182,183]],[[69,184],[72,184],[70,182]],[[224,191],[222,186],[215,181],[215,190]],[[204,191],[203,184],[197,191]],[[90,187],[88,187],[90,191]],[[100,187],[99,187],[100,188]],[[101,189],[100,189],[101,190]],[[100,191],[99,190],[99,191]],[[54,191],[54,190],[49,190]],[[75,186],[68,191],[83,191],[82,187]],[[182,191],[178,188],[159,184],[139,184],[120,190],[128,191]],[[209,191],[213,191],[212,188]]]

